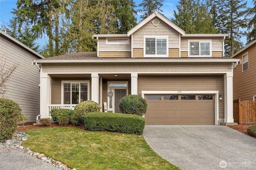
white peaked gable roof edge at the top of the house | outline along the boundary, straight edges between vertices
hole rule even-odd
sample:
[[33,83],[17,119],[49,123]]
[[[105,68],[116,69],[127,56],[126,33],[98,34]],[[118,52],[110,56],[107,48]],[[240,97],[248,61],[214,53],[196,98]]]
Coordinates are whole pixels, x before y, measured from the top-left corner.
[[152,20],[153,18],[158,17],[160,18],[162,21],[164,21],[166,24],[168,24],[170,27],[172,27],[173,29],[175,29],[176,31],[178,31],[181,35],[185,35],[185,31],[183,31],[182,29],[180,29],[180,27],[178,27],[177,25],[175,25],[174,23],[172,23],[170,20],[168,20],[168,18],[166,18],[165,16],[163,16],[162,14],[160,14],[159,12],[154,12],[153,14],[151,14],[148,18],[146,18],[145,20],[141,21],[138,25],[136,25],[135,27],[133,27],[130,31],[128,31],[127,36],[132,35],[134,32],[136,32],[138,29],[140,29],[143,25],[145,25],[146,23],[148,23],[150,20]]

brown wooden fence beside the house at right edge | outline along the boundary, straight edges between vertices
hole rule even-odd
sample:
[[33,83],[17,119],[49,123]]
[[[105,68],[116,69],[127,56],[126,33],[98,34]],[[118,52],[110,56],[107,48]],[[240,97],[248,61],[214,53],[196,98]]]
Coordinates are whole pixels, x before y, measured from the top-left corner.
[[233,102],[234,122],[238,124],[256,123],[256,101],[243,100]]

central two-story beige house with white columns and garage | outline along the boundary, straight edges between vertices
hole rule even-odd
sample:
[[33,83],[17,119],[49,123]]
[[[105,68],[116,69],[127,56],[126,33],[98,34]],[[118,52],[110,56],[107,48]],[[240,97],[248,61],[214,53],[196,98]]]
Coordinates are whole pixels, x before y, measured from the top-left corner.
[[[94,35],[97,52],[34,60],[41,64],[41,118],[52,108],[93,100],[119,112],[127,94],[146,99],[147,125],[233,123],[233,66],[228,34],[186,34],[154,12],[127,34]],[[224,124],[225,124],[224,123]]]

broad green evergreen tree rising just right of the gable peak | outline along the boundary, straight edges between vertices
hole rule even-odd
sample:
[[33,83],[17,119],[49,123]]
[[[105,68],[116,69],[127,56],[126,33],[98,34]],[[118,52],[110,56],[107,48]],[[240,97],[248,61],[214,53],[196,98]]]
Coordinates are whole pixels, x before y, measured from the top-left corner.
[[207,11],[207,7],[199,0],[180,0],[174,10],[172,22],[183,29],[188,34],[195,33],[218,33],[212,24],[212,19]]

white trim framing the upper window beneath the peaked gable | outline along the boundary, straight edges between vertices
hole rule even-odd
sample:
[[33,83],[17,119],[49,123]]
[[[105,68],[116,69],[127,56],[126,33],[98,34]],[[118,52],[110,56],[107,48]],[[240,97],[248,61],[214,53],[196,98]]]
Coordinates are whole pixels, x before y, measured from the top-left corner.
[[[146,55],[146,38],[166,39],[166,55]],[[144,35],[143,36],[143,57],[169,57],[169,37],[168,35]]]

